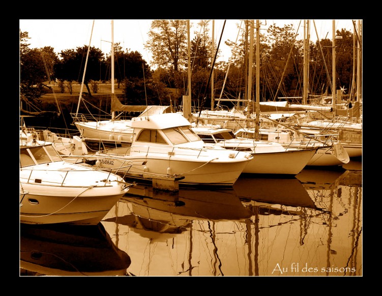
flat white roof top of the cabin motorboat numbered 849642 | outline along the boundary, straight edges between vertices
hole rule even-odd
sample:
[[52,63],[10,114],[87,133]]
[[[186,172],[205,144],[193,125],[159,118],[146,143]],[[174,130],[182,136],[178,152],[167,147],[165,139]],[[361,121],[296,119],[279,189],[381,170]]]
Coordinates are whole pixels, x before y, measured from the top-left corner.
[[181,113],[163,113],[145,117],[134,117],[131,120],[132,128],[163,130],[181,126],[191,126],[191,123]]

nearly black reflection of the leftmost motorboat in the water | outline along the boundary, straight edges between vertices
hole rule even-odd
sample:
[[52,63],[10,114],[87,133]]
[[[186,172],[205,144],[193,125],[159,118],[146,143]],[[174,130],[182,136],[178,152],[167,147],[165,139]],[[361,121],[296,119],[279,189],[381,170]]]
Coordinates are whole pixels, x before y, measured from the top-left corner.
[[20,276],[124,276],[130,264],[101,223],[20,224]]

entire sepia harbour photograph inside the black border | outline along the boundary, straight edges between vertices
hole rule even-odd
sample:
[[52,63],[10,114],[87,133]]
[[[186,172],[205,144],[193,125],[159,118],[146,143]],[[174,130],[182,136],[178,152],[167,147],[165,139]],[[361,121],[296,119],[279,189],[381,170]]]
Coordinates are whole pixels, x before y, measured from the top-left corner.
[[19,277],[363,277],[362,19],[20,19]]

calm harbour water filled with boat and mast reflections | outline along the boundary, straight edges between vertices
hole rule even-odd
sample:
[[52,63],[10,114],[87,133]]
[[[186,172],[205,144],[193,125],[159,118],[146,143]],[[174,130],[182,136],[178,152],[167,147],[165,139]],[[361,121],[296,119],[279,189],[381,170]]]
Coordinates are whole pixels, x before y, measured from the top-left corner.
[[346,169],[136,186],[98,226],[22,227],[20,275],[362,276],[362,163]]

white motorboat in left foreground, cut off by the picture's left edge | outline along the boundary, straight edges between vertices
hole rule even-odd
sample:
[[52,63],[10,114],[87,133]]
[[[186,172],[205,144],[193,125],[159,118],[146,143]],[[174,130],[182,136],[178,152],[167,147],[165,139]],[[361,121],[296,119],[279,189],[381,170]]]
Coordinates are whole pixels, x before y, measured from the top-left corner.
[[121,176],[65,162],[52,143],[20,141],[20,222],[95,225],[131,184]]

